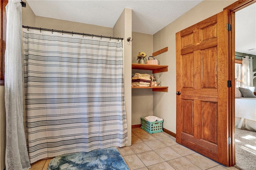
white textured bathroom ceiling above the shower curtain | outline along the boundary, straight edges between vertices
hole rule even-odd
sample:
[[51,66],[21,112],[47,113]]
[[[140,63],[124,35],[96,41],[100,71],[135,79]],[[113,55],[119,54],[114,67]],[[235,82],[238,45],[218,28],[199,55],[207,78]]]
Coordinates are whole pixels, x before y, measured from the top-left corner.
[[132,31],[155,34],[202,0],[27,0],[36,16],[113,28],[132,9]]

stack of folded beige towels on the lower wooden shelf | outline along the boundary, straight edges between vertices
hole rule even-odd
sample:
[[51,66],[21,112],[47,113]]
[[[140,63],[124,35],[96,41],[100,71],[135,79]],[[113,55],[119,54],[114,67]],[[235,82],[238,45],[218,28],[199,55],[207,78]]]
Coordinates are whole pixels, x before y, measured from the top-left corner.
[[135,73],[132,77],[132,87],[150,87],[150,75]]

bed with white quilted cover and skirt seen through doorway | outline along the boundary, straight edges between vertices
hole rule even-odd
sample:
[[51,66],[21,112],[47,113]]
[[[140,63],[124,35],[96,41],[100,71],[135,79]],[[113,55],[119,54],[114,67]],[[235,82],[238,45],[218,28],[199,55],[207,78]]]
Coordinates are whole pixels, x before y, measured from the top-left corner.
[[256,131],[256,97],[246,96],[237,98],[236,95],[235,126],[244,130]]

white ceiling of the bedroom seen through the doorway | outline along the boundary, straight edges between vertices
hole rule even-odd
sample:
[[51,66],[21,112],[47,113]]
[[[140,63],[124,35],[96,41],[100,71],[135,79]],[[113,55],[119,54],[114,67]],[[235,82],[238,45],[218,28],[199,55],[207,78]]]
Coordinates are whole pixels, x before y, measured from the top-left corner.
[[256,3],[236,12],[235,32],[235,51],[256,55]]

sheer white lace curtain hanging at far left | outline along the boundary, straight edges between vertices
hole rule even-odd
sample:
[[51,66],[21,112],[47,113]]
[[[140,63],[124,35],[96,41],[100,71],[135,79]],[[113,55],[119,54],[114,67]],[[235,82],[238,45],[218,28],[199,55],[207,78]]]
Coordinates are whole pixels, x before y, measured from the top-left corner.
[[5,110],[6,170],[28,170],[30,163],[23,126],[22,24],[20,0],[6,6]]

